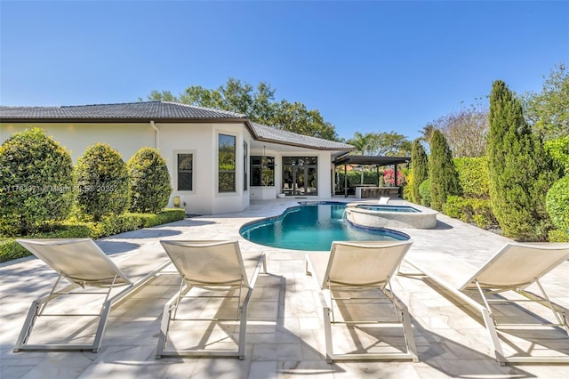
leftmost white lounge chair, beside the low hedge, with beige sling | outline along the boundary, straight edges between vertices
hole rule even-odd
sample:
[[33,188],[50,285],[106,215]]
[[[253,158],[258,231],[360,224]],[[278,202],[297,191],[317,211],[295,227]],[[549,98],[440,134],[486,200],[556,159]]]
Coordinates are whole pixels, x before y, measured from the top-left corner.
[[[162,263],[157,259],[159,257],[153,255],[147,262],[136,262],[136,269],[133,270],[133,275],[127,277],[124,271],[120,270],[115,262],[108,258],[91,238],[18,239],[17,241],[21,246],[26,247],[32,254],[36,255],[37,258],[51,266],[60,276],[52,286],[50,294],[32,302],[20,336],[14,346],[14,352],[25,350],[91,350],[98,352],[107,326],[108,314],[113,305],[124,300],[129,294],[132,294],[134,289],[148,282],[158,271],[163,270],[169,264],[164,254]],[[60,280],[62,278],[66,279],[70,284],[61,287]],[[87,287],[104,288],[104,291],[93,292]],[[79,289],[76,290],[77,288]],[[121,288],[122,290],[117,293],[118,289]],[[56,298],[62,299],[60,296],[77,296],[79,294],[84,295],[84,297],[96,295],[102,298],[100,311],[98,313],[81,313],[77,310],[78,313],[66,312],[61,314],[53,313],[54,310],[46,310],[48,303]],[[76,303],[80,304],[81,302]],[[52,308],[57,309],[55,306],[50,307],[50,309]],[[95,318],[99,319],[99,323],[91,344],[68,342],[29,343],[36,320],[40,317]],[[65,338],[74,339],[75,336],[68,335],[63,338],[65,341]]]

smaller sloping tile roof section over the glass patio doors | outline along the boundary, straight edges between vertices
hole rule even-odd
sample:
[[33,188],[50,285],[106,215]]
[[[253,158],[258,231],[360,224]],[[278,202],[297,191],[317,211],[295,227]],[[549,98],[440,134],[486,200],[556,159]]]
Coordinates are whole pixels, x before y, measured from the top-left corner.
[[251,123],[253,132],[257,134],[260,141],[275,141],[293,146],[302,146],[312,149],[333,149],[333,150],[353,150],[352,145],[342,142],[328,141],[323,138],[310,137],[298,133],[276,129],[273,126]]

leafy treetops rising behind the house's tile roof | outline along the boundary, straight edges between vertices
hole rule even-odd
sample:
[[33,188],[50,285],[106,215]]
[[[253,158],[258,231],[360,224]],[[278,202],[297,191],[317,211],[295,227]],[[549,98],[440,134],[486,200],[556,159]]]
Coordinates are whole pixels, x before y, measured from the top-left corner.
[[[300,101],[276,101],[275,92],[276,90],[265,82],[260,82],[253,88],[249,83],[229,77],[225,85],[216,89],[192,85],[178,97],[170,91],[155,90],[148,94],[147,99],[228,110],[244,114],[253,122],[263,125],[273,125],[279,129],[325,140],[339,140],[335,126],[325,121],[318,109],[307,109]],[[139,98],[139,101],[142,99]]]

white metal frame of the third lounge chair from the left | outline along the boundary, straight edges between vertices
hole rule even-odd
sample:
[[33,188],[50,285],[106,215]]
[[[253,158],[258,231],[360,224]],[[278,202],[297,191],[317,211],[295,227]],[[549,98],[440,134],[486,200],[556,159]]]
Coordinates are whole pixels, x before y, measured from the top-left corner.
[[[325,271],[325,275],[322,283],[318,283],[322,290],[328,293],[327,300],[323,292],[320,292],[320,301],[322,303],[324,312],[324,324],[325,324],[325,344],[326,344],[326,361],[328,363],[333,363],[334,361],[345,361],[345,360],[412,360],[413,362],[419,361],[417,357],[417,350],[415,347],[415,341],[413,337],[413,327],[411,324],[411,317],[409,315],[409,310],[403,302],[397,299],[397,296],[393,293],[391,289],[391,278],[392,275],[397,272],[397,268],[403,259],[409,246],[411,246],[411,241],[365,241],[365,242],[333,242],[333,246],[330,252],[330,258],[328,260],[328,265]],[[336,254],[336,249],[339,246],[352,246],[356,248],[370,249],[378,247],[388,247],[388,246],[405,246],[405,251],[400,255],[399,259],[393,266],[391,275],[387,275],[385,278],[380,278],[374,283],[339,283],[334,282],[330,277],[331,268],[333,264],[334,255]],[[315,267],[310,260],[311,254],[307,254],[306,257],[306,273],[307,275],[312,275],[315,271]],[[314,256],[314,255],[312,255]],[[356,280],[357,282],[357,280]],[[339,301],[361,301],[361,300],[379,300],[381,297],[363,297],[363,296],[334,296],[334,293],[357,293],[366,291],[381,291],[383,295],[391,302],[393,306],[394,313],[396,315],[395,320],[349,320],[340,321],[336,319],[334,315],[334,303]],[[333,351],[333,325],[365,325],[373,324],[380,325],[381,327],[401,327],[403,330],[403,336],[405,339],[405,351],[403,352],[385,352],[385,353],[334,353]]]

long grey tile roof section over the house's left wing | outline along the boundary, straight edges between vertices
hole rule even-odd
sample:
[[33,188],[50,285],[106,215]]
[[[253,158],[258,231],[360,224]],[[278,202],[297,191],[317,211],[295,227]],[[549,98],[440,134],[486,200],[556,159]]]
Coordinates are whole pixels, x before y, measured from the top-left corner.
[[225,110],[208,109],[170,101],[127,102],[119,104],[72,105],[61,107],[0,106],[0,119],[247,119]]

